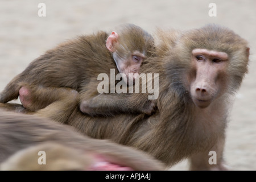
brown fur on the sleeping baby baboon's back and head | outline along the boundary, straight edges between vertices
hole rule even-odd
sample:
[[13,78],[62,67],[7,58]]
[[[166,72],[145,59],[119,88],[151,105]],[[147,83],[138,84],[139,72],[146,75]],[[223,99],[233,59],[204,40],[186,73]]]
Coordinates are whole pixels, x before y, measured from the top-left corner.
[[[118,28],[119,44],[125,49],[117,50],[120,56],[127,56],[132,51],[144,51],[145,55],[150,57],[154,53],[154,39],[150,34],[142,28],[134,24],[124,24]],[[59,88],[71,88],[77,90],[81,94],[81,100],[89,100],[94,96],[98,96],[97,85],[100,81],[97,76],[100,73],[106,73],[110,77],[110,69],[115,69],[115,75],[118,70],[112,57],[112,53],[106,48],[106,39],[109,34],[100,31],[94,35],[79,36],[74,40],[69,40],[53,48],[44,55],[38,57],[28,65],[28,67],[19,75],[13,78],[0,94],[0,102],[6,103],[14,100],[19,96],[19,89],[27,86],[33,90],[31,110],[42,109],[57,98],[44,97],[39,100],[40,90],[48,88],[49,90]],[[142,63],[143,64],[143,63]],[[102,96],[104,97],[104,96]],[[121,102],[126,96],[115,94],[114,98],[119,98]],[[110,100],[110,97],[108,97]],[[100,100],[102,100],[100,98]],[[138,103],[136,107],[128,105],[113,106],[109,103],[113,101],[105,101],[101,106],[97,105],[99,112],[103,110],[103,114],[113,114],[122,111],[140,112],[148,108],[149,104]],[[139,106],[140,105],[140,106]],[[112,107],[114,107],[112,109]],[[129,108],[127,108],[129,107]],[[149,108],[151,110],[151,107]],[[90,113],[94,114],[94,113]]]

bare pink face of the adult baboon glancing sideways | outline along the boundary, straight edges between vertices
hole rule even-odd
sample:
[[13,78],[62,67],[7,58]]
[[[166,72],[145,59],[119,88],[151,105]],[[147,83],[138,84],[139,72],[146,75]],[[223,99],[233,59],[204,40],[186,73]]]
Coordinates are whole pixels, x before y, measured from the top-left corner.
[[205,108],[221,96],[227,86],[228,54],[193,49],[191,61],[192,69],[187,75],[188,90],[195,105]]

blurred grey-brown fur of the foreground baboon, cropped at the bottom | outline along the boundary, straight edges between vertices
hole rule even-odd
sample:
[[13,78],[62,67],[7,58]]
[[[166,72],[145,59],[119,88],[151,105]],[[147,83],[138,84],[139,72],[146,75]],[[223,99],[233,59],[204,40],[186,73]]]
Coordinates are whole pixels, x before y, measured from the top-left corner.
[[[12,163],[9,161],[5,162],[2,169],[84,170],[92,163],[87,155],[100,155],[110,163],[135,170],[164,169],[162,163],[142,151],[108,140],[85,137],[70,126],[32,115],[0,110],[0,137],[0,166],[16,152],[23,150],[18,158],[14,158],[18,159],[14,161],[15,166],[10,166]],[[38,164],[40,150],[46,151],[46,165]],[[31,152],[35,155],[30,155]],[[65,162],[66,166],[62,162]]]

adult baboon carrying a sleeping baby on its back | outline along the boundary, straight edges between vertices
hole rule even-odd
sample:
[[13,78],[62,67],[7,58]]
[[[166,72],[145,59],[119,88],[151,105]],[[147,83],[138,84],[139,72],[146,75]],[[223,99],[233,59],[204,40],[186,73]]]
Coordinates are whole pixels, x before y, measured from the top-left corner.
[[[225,169],[222,152],[229,101],[247,72],[247,42],[214,24],[158,35],[156,56],[144,60],[141,70],[159,74],[158,110],[153,115],[87,117],[77,107],[77,95],[68,90],[66,97],[36,114],[74,126],[90,137],[146,151],[167,166],[190,158],[191,169]],[[138,102],[144,97],[147,94],[133,94],[131,99]],[[216,151],[216,165],[208,163],[209,151]]]

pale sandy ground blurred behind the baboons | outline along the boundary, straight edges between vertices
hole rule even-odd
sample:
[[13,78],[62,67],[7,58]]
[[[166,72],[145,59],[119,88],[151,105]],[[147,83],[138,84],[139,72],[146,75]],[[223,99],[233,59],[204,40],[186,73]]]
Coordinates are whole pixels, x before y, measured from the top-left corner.
[[[46,17],[38,4],[46,4]],[[0,90],[30,61],[47,49],[76,35],[111,31],[134,23],[149,32],[156,27],[188,30],[218,23],[250,43],[250,68],[237,93],[227,130],[225,158],[234,170],[256,169],[256,1],[214,1],[217,16],[210,17],[212,1],[0,1]],[[186,161],[171,169],[186,170]]]

